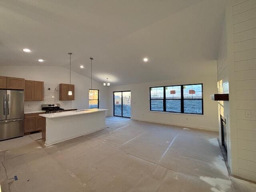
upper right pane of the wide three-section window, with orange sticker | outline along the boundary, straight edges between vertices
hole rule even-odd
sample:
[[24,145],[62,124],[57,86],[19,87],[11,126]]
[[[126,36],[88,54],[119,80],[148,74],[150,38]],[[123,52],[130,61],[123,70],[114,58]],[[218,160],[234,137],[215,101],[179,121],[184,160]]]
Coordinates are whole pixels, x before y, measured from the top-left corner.
[[183,96],[184,99],[202,99],[202,85],[184,85]]

